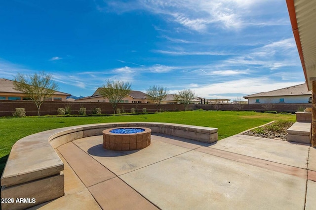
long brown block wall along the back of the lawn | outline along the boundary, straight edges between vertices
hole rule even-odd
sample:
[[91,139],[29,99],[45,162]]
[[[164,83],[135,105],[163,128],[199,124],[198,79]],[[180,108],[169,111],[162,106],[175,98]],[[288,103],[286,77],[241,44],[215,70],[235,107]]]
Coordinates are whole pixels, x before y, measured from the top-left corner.
[[[81,107],[86,108],[86,114],[91,114],[94,108],[101,108],[102,114],[113,114],[112,105],[109,103],[97,102],[64,102],[64,101],[47,101],[44,102],[40,108],[40,115],[57,115],[58,108],[71,107],[72,114],[79,114]],[[204,109],[204,110],[244,110],[244,111],[277,111],[277,112],[290,112],[304,110],[307,107],[312,107],[312,104],[190,104],[189,110]],[[38,109],[33,101],[1,101],[0,102],[0,116],[12,116],[15,108],[25,108],[27,116],[38,115]],[[143,108],[147,112],[155,112],[157,107],[155,104],[142,104],[142,103],[119,103],[118,107],[121,113],[130,112],[132,108],[136,112],[142,112]],[[183,111],[184,105],[182,104],[161,104],[158,111]]]

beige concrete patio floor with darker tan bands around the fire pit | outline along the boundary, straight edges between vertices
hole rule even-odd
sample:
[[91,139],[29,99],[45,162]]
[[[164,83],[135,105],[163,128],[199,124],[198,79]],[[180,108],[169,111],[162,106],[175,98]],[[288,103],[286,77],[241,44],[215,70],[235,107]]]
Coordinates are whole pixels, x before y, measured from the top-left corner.
[[100,135],[58,147],[65,196],[32,209],[316,206],[316,150],[308,145],[245,135],[207,144],[155,133],[143,150],[111,151],[102,144]]

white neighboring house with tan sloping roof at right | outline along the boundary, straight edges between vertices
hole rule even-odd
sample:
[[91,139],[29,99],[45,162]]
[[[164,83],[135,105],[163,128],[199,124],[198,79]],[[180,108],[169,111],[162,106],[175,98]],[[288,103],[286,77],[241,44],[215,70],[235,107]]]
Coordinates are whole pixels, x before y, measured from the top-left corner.
[[243,97],[248,100],[248,104],[311,103],[312,91],[307,89],[306,84],[301,84],[279,90],[246,95]]

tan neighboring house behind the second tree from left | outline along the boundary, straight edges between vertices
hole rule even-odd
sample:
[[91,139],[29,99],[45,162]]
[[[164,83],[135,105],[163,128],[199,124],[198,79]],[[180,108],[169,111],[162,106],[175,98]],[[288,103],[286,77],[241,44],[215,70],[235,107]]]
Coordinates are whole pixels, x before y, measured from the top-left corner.
[[[77,102],[107,102],[108,98],[104,98],[103,95],[99,93],[98,88],[91,96],[76,99]],[[147,94],[137,90],[131,90],[119,103],[150,103],[151,100],[147,99]]]

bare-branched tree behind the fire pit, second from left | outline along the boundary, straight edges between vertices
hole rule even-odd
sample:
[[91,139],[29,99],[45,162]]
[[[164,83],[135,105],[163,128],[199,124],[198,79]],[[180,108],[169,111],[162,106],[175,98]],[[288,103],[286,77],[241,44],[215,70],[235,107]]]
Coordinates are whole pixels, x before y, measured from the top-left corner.
[[99,93],[108,98],[114,109],[114,114],[118,103],[130,92],[131,84],[120,80],[107,80],[106,85],[99,89]]

